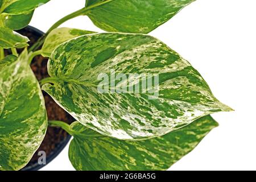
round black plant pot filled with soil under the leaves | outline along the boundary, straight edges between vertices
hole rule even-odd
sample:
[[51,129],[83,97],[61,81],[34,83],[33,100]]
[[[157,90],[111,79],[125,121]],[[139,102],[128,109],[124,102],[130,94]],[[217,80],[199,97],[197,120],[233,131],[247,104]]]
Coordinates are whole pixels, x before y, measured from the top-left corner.
[[[27,26],[18,32],[27,36],[31,40],[30,46],[34,44],[36,40],[38,40],[42,35],[44,35],[44,32],[31,26]],[[21,51],[22,50],[18,50],[18,52]],[[38,80],[42,80],[42,78],[48,77],[46,58],[42,56],[36,56],[31,63],[31,68]],[[46,109],[49,120],[61,120],[67,123],[72,123],[74,121],[71,115],[61,109],[61,107],[59,107],[47,93],[43,93],[43,95],[46,102]],[[21,171],[37,171],[40,168],[46,166],[49,162],[55,159],[57,155],[60,154],[70,139],[71,135],[67,134],[64,130],[48,127],[46,137],[39,147],[39,150],[35,152],[31,161],[27,164],[26,167],[21,169]],[[38,159],[40,158],[38,153],[39,151],[46,152],[46,164],[38,163]]]

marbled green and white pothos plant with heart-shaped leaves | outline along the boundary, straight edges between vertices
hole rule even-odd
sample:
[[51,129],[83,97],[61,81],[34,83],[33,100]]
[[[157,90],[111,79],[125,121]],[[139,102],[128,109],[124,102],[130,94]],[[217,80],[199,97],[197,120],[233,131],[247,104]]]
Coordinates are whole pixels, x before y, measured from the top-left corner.
[[[1,170],[23,168],[47,125],[73,136],[69,159],[77,170],[168,169],[218,126],[209,114],[232,110],[188,61],[146,35],[194,0],[87,0],[27,48],[28,38],[15,30],[26,27],[36,7],[48,1],[0,0]],[[106,32],[58,28],[80,15]],[[24,50],[18,55],[16,48]],[[5,57],[4,49],[12,54]],[[30,68],[36,55],[49,57],[50,77],[40,82]],[[159,96],[98,92],[98,75],[110,76],[111,69],[157,74]],[[124,82],[134,86],[139,78],[116,84]],[[47,121],[42,90],[76,122]]]

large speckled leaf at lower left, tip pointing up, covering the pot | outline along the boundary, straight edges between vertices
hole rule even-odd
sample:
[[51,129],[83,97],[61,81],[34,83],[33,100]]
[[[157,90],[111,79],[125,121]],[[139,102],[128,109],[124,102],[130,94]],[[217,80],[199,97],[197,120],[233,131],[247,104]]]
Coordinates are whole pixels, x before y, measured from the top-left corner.
[[27,61],[24,51],[0,72],[0,170],[26,166],[47,129],[43,94]]

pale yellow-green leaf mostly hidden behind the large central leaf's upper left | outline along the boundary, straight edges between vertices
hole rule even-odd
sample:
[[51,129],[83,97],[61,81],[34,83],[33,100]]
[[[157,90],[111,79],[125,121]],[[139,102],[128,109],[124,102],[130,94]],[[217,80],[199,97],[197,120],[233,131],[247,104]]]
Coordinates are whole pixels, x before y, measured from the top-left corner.
[[76,28],[56,28],[47,36],[46,41],[43,44],[42,55],[44,57],[49,57],[57,46],[66,42],[67,40],[71,40],[81,35],[93,33],[95,32],[79,30]]

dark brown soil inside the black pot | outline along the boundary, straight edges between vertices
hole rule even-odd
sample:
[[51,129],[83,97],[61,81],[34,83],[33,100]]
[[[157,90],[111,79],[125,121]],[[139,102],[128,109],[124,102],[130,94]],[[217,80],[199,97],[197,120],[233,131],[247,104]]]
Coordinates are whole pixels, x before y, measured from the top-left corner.
[[[40,36],[39,34],[32,32],[30,28],[24,28],[23,30],[20,30],[19,33],[27,36],[30,39],[30,45],[34,44]],[[39,81],[43,78],[49,77],[47,72],[47,61],[48,59],[42,56],[36,56],[32,61],[31,69]],[[48,120],[64,121],[69,124],[75,121],[75,119],[73,119],[71,115],[57,105],[46,92],[43,92],[43,95],[46,102]],[[67,137],[68,134],[64,130],[56,127],[48,127],[46,137],[44,138],[38,151],[45,151],[47,158],[49,158],[49,156],[56,152],[56,148],[59,148],[61,142],[67,139]],[[35,166],[37,164],[38,158],[40,157],[38,156],[38,151],[35,152],[27,166]]]

